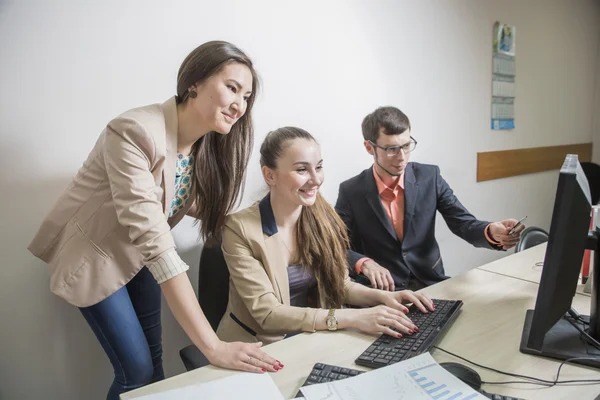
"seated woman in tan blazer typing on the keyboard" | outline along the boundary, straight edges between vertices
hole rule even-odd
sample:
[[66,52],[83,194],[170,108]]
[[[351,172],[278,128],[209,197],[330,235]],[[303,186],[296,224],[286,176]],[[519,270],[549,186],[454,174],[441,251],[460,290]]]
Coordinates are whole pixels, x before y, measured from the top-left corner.
[[346,227],[319,194],[324,173],[315,139],[299,128],[280,128],[267,135],[260,154],[269,194],[229,215],[223,230],[231,280],[217,335],[268,344],[302,331],[354,328],[402,336],[418,330],[402,303],[433,310],[424,294],[350,281]]

